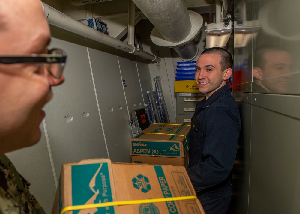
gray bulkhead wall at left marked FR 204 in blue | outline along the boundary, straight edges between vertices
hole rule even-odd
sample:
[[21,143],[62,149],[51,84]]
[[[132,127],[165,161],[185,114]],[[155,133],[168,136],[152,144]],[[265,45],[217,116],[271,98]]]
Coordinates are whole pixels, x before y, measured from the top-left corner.
[[148,103],[146,91],[152,90],[147,60],[50,27],[50,48],[68,55],[65,82],[52,88],[38,144],[7,153],[32,183],[30,191],[46,213],[52,210],[63,163],[91,158],[131,162],[131,112]]

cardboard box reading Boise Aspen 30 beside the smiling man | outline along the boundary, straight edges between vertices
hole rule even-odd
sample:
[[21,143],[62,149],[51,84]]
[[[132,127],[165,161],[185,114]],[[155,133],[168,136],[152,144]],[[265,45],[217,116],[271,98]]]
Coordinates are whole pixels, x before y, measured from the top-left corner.
[[133,163],[188,166],[190,123],[154,123],[130,139]]

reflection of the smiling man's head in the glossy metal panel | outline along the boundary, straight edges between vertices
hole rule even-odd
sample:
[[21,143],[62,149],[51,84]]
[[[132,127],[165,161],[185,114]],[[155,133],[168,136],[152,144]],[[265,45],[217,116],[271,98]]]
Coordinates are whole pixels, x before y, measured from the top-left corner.
[[253,92],[286,93],[291,81],[292,59],[276,46],[261,46],[253,54]]

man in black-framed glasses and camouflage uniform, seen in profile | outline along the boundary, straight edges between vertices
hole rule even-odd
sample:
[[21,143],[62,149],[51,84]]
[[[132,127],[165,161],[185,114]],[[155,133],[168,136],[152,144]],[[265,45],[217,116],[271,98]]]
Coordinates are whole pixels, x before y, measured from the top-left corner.
[[0,1],[0,213],[44,213],[4,153],[40,140],[42,108],[64,82],[66,54],[49,42],[39,0]]

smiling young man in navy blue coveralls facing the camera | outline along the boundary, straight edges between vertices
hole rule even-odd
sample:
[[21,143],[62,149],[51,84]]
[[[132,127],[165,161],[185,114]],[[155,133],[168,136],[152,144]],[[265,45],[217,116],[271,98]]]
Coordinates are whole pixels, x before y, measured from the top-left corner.
[[191,119],[187,173],[206,214],[225,214],[231,200],[231,170],[241,128],[227,83],[232,63],[227,50],[215,47],[203,51],[195,66],[195,79],[205,99],[197,103]]

